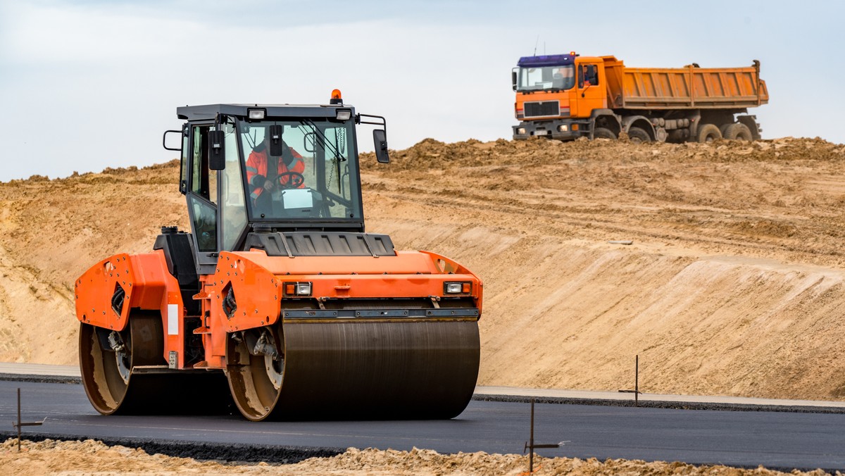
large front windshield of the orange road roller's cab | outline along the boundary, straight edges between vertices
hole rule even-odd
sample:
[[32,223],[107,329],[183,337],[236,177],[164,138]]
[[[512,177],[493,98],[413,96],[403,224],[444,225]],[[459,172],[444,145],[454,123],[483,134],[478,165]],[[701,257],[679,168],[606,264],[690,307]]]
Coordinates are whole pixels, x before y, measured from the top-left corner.
[[[270,153],[274,124],[281,125],[280,156]],[[353,127],[324,119],[240,122],[251,219],[360,221]]]

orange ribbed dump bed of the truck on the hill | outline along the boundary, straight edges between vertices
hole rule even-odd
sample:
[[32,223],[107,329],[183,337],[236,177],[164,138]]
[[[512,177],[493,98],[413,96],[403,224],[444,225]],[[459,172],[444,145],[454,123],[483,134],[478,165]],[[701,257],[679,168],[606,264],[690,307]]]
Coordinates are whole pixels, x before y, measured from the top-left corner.
[[742,109],[769,101],[760,62],[746,68],[628,68],[602,57],[613,109]]

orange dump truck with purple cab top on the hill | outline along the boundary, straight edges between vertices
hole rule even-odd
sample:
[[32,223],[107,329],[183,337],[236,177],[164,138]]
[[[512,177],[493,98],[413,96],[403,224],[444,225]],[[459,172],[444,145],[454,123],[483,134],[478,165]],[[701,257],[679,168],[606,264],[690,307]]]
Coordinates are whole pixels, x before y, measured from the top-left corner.
[[629,68],[613,56],[570,52],[521,57],[511,82],[518,140],[759,140],[748,109],[769,101],[757,60],[747,68]]

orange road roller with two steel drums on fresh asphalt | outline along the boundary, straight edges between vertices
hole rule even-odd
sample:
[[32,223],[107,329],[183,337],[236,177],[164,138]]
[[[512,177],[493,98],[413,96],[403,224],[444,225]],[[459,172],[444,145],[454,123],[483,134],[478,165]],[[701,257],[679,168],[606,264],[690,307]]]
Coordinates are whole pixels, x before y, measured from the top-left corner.
[[115,254],[75,282],[93,407],[254,421],[460,414],[478,375],[482,281],[364,231],[356,128],[381,126],[374,155],[387,163],[384,118],[338,90],[329,104],[177,117],[163,142],[182,154],[190,231],[161,227],[150,253]]

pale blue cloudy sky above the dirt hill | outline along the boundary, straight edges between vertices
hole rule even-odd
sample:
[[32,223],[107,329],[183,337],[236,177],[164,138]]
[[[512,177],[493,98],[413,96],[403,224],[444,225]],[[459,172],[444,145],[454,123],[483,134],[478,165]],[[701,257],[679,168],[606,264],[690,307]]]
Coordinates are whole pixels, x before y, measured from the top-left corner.
[[[766,139],[845,142],[845,3],[0,0],[0,181],[176,158],[176,107],[343,91],[391,148],[510,139],[521,56],[629,66],[762,63]],[[360,146],[371,150],[368,131]]]

